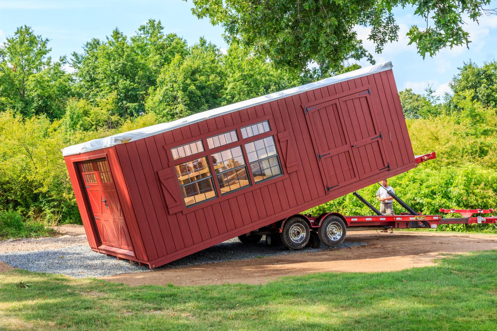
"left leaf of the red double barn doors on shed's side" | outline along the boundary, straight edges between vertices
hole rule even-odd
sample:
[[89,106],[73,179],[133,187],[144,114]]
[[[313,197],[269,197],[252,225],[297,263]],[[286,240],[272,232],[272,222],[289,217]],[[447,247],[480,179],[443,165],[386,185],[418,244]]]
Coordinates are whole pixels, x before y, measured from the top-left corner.
[[338,99],[310,107],[306,112],[328,192],[357,181],[352,147]]

